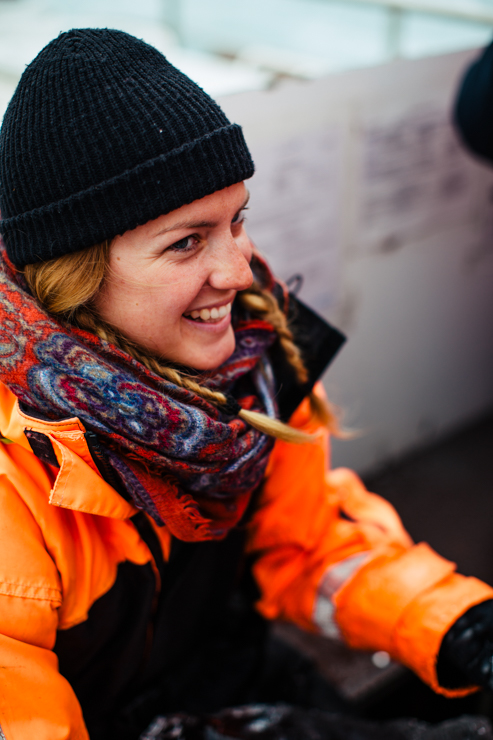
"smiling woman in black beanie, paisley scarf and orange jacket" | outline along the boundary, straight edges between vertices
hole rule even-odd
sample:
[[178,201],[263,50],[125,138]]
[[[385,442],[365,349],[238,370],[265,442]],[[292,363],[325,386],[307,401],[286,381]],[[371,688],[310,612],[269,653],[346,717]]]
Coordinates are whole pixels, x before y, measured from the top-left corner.
[[12,98],[6,740],[137,738],[159,712],[265,698],[259,614],[388,650],[442,693],[488,682],[492,589],[327,473],[316,381],[342,339],[255,253],[252,174],[241,129],[122,32],[60,35]]

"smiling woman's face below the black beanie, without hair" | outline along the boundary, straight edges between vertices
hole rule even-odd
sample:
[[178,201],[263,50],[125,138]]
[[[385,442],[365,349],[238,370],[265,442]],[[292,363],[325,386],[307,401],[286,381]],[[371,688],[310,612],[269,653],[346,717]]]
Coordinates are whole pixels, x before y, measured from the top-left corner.
[[232,354],[231,304],[252,284],[243,183],[117,236],[101,317],[163,359],[212,370]]

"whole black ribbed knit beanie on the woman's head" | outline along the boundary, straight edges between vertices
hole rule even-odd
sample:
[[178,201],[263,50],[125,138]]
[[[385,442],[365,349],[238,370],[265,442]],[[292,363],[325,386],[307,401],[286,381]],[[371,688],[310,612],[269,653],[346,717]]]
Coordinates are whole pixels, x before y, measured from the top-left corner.
[[5,113],[0,232],[23,267],[252,175],[241,128],[156,49],[75,29],[26,68]]

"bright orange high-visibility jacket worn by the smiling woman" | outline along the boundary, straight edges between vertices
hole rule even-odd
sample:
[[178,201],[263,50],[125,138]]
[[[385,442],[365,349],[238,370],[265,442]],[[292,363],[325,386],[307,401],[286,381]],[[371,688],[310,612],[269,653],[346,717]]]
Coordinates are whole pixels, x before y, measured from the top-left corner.
[[[328,471],[326,434],[307,402],[291,423],[314,444],[276,442],[248,525],[259,611],[357,648],[386,650],[436,690],[443,635],[493,597],[413,545],[390,504],[349,470]],[[25,430],[49,437],[58,467],[33,454]],[[55,643],[83,627],[122,565],[159,573],[131,517],[136,509],[98,472],[78,419],[24,414],[0,385],[0,727],[6,740],[89,737]],[[149,520],[150,521],[150,520]],[[151,523],[164,559],[171,537]],[[129,566],[130,567],[130,566]],[[452,693],[452,692],[450,692]],[[454,692],[455,694],[460,692]],[[1,737],[0,733],[0,737]]]

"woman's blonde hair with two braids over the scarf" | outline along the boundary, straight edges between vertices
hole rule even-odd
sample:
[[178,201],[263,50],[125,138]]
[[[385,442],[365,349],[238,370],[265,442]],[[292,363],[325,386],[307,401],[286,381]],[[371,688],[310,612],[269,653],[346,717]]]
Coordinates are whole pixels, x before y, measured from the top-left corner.
[[[156,356],[146,352],[100,318],[92,301],[108,274],[109,253],[110,242],[104,241],[80,252],[66,254],[47,262],[26,265],[24,277],[33,295],[50,314],[111,342],[141,362],[148,370],[181,388],[193,391],[219,408],[224,407],[227,404],[224,393],[211,390],[199,384],[190,375],[163,364]],[[251,288],[239,293],[238,299],[251,315],[272,324],[298,381],[306,382],[308,373],[303,359],[294,343],[286,315],[279,308],[274,296],[254,283]],[[310,394],[310,403],[323,423],[337,431],[336,417],[329,405],[313,393]],[[277,439],[297,443],[313,441],[311,435],[257,411],[241,409],[238,416],[258,431]]]

